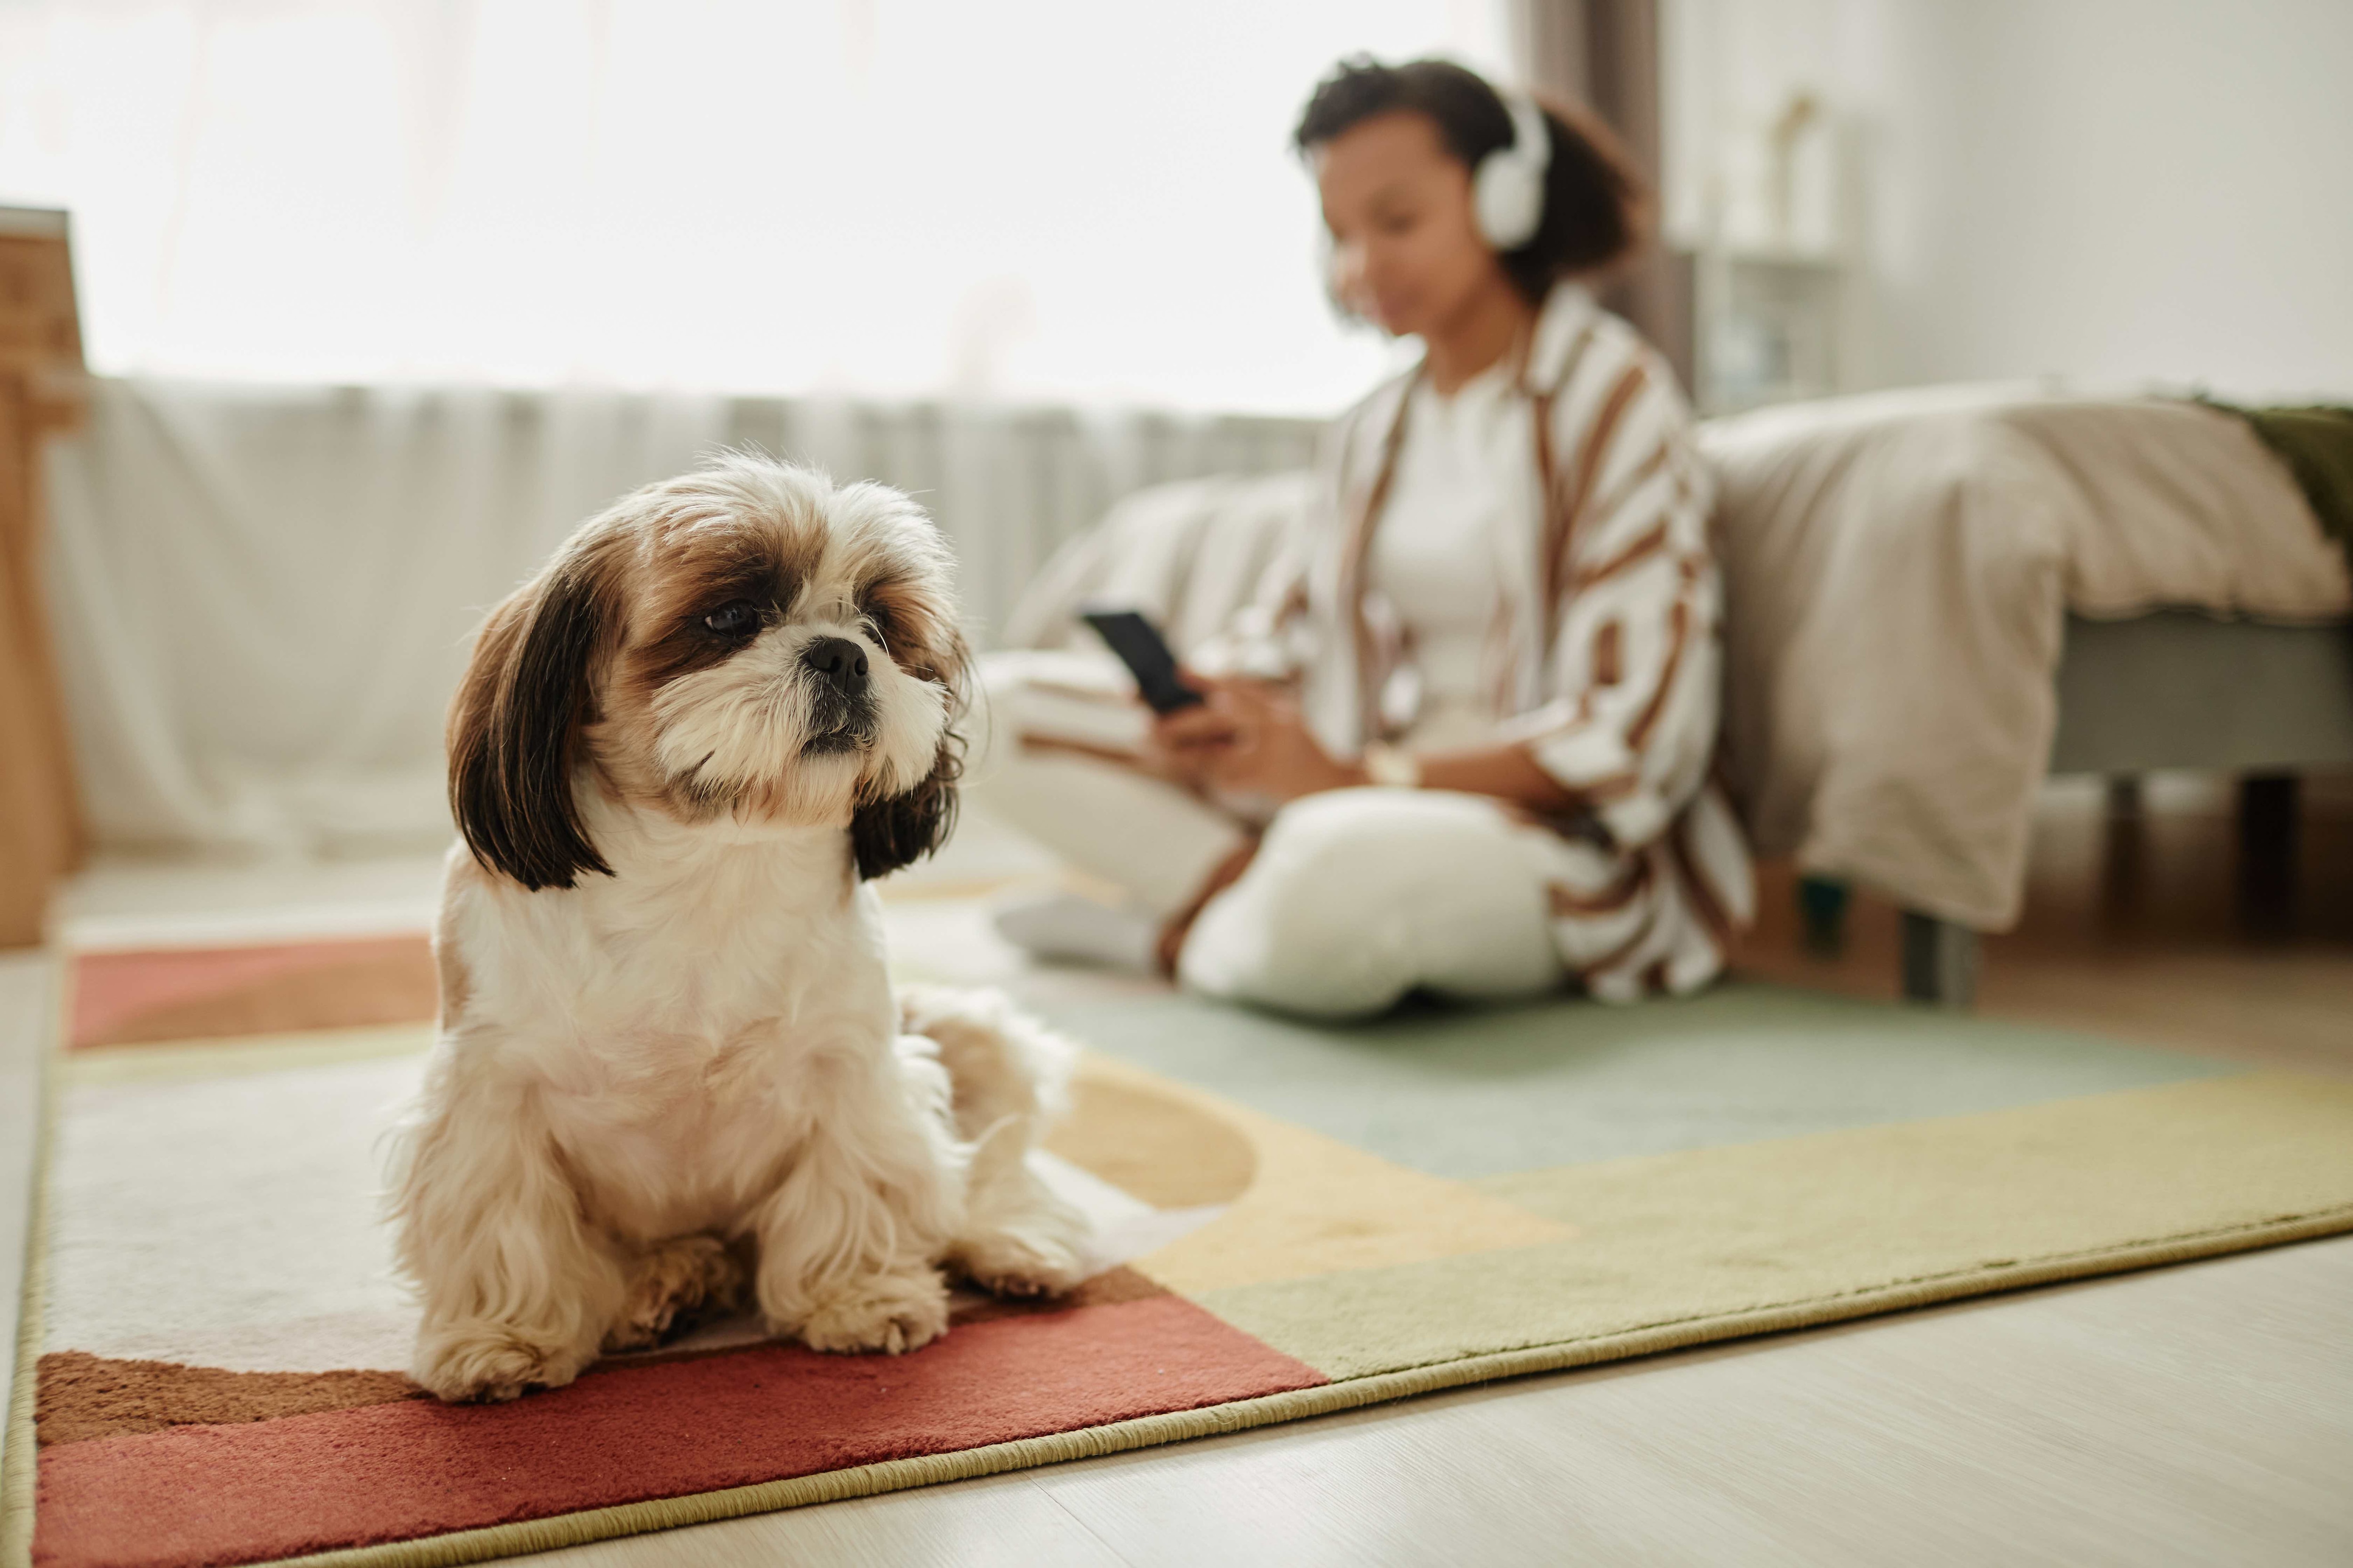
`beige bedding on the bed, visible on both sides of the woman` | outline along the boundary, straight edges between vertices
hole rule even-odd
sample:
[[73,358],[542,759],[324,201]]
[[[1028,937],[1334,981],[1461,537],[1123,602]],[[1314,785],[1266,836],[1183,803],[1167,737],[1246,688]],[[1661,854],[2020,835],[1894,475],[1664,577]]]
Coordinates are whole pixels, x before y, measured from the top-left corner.
[[[2184,402],[1929,388],[1701,425],[1718,480],[1725,769],[1760,856],[2000,931],[2019,914],[2066,611],[2353,609],[2278,458]],[[1311,503],[1306,475],[1144,491],[1073,541],[1016,646],[1087,599],[1198,646]]]

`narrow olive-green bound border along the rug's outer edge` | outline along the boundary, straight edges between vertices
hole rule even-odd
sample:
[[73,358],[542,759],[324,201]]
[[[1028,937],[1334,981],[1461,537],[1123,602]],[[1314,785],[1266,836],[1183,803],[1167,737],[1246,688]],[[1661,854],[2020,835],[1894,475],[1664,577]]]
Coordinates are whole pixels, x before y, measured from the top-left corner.
[[[52,1013],[61,1027],[61,997]],[[61,1039],[52,1032],[49,1051],[40,1053],[40,1117],[35,1121],[31,1222],[26,1225],[24,1302],[16,1319],[16,1375],[9,1389],[7,1453],[0,1462],[0,1568],[31,1568],[35,1528],[35,1371],[42,1338],[42,1300],[49,1274],[49,1154],[64,1072]],[[2228,1074],[2238,1077],[2238,1074]],[[480,1563],[499,1556],[551,1552],[555,1547],[579,1547],[624,1535],[647,1535],[722,1519],[751,1514],[776,1514],[816,1502],[842,1502],[849,1497],[875,1497],[882,1493],[939,1486],[944,1481],[969,1481],[1040,1465],[1089,1460],[1108,1453],[1129,1453],[1179,1443],[1198,1436],[1221,1436],[1271,1427],[1313,1415],[1332,1415],[1362,1406],[1438,1394],[1445,1389],[1555,1373],[1605,1361],[1626,1361],[1697,1345],[1741,1340],[1798,1328],[1819,1328],[1887,1312],[1929,1307],[1974,1295],[1995,1295],[2031,1286],[2061,1284],[2071,1279],[2097,1279],[2134,1269],[2221,1258],[2292,1241],[2313,1241],[2353,1232],[2353,1204],[2322,1208],[2304,1215],[2285,1215],[2254,1225],[2228,1225],[2207,1232],[2186,1232],[2151,1241],[2097,1248],[2089,1253],[2059,1253],[2031,1262],[2009,1262],[1984,1269],[1960,1269],[1925,1279],[1897,1281],[1873,1291],[1849,1291],[1777,1307],[1755,1307],[1715,1316],[1675,1319],[1626,1333],[1595,1335],[1588,1340],[1560,1340],[1525,1349],[1489,1352],[1459,1361],[1438,1361],[1369,1378],[1325,1382],[1311,1389],[1285,1394],[1261,1394],[1193,1410],[1167,1410],[1139,1415],[1104,1427],[1078,1427],[1045,1436],[988,1443],[955,1453],[918,1455],[908,1460],[882,1460],[854,1465],[786,1481],[760,1481],[680,1497],[656,1497],[647,1502],[624,1502],[574,1514],[551,1514],[518,1523],[485,1526],[475,1530],[452,1530],[416,1540],[386,1542],[376,1547],[339,1547],[306,1556],[266,1559],[252,1568],[447,1568],[454,1563]]]

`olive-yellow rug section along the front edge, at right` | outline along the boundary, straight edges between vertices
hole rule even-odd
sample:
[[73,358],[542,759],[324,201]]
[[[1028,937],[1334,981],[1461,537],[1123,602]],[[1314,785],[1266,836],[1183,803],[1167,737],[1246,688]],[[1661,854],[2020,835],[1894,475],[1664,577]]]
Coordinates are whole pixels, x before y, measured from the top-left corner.
[[[1567,1241],[1205,1288],[1332,1378],[2353,1229],[2353,1084],[2249,1074],[1478,1182]],[[1711,1333],[1689,1335],[1720,1338]]]

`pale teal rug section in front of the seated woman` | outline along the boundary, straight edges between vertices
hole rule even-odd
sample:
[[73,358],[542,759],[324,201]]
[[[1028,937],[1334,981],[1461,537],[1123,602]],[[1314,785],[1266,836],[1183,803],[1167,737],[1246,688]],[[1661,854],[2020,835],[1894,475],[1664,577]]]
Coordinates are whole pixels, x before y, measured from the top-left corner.
[[1174,992],[1033,1006],[1096,1051],[1457,1180],[2240,1072],[1772,985],[1635,1006],[1412,1006],[1358,1025]]

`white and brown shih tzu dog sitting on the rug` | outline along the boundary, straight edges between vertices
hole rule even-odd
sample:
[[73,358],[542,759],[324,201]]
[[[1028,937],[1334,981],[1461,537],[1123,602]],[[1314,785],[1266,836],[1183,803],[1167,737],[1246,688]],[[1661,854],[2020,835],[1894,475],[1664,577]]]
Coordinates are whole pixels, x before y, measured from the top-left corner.
[[624,498],[489,614],[393,1143],[416,1382],[513,1399],[746,1300],[901,1352],[948,1326],[941,1269],[1078,1281],[1085,1225],[1024,1159],[1071,1046],[894,997],[864,886],[948,830],[965,668],[913,501],[751,456]]

